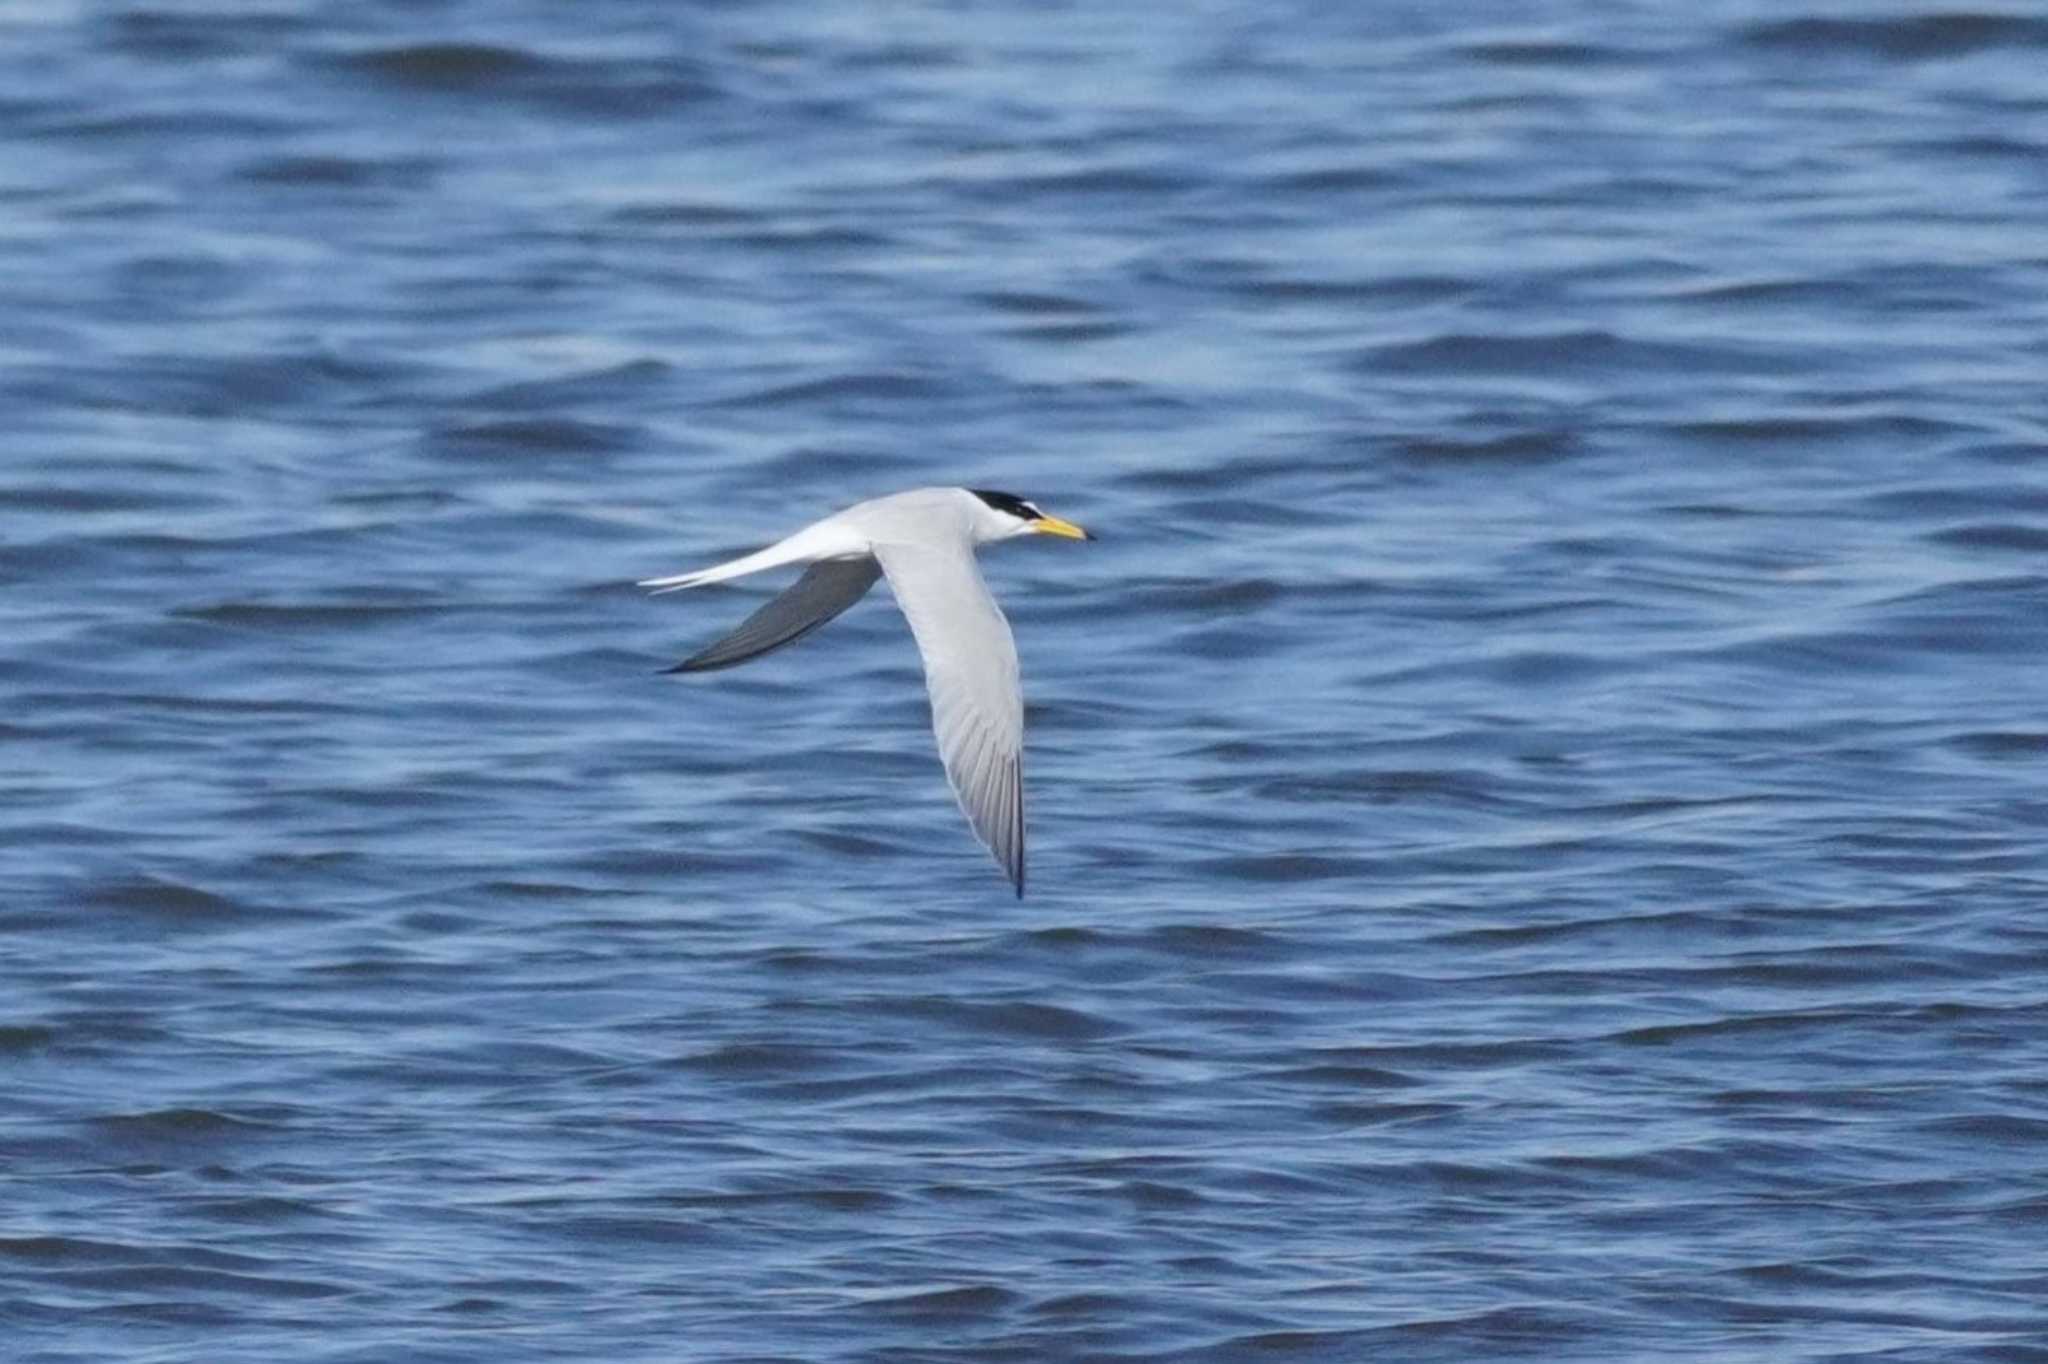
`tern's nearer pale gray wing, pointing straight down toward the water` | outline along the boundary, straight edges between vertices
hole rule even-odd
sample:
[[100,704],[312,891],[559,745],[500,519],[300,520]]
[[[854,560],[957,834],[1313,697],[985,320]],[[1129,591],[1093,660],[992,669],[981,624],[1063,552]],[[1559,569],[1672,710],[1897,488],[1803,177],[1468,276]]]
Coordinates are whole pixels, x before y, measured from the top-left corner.
[[879,545],[918,637],[946,780],[1024,897],[1024,692],[1010,623],[967,545]]

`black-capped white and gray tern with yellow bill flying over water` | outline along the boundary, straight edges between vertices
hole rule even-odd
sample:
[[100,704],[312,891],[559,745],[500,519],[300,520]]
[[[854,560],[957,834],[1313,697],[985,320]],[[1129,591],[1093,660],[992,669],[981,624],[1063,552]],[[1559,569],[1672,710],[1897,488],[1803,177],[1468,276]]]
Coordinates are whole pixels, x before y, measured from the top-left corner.
[[932,729],[952,795],[975,836],[1024,899],[1024,692],[1018,649],[975,551],[1020,535],[1092,541],[1014,494],[918,487],[856,502],[768,549],[639,586],[680,592],[745,573],[809,563],[803,578],[737,631],[666,672],[711,672],[797,643],[887,576],[924,655]]

